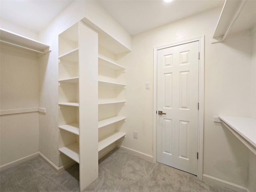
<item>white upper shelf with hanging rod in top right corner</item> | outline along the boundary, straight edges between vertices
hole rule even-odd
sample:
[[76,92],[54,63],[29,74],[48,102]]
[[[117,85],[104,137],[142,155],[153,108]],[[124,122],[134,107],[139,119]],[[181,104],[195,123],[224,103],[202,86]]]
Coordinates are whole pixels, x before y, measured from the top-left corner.
[[256,1],[226,0],[218,20],[212,43],[223,42],[226,37],[252,33],[256,26]]

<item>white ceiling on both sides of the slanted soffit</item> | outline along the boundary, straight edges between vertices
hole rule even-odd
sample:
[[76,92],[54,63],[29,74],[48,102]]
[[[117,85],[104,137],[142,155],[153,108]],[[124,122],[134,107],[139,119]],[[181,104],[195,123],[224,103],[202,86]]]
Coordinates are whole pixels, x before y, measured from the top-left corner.
[[[98,0],[97,0],[98,1]],[[0,0],[1,18],[40,32],[73,0]],[[130,34],[223,6],[224,0],[99,0],[100,5]]]

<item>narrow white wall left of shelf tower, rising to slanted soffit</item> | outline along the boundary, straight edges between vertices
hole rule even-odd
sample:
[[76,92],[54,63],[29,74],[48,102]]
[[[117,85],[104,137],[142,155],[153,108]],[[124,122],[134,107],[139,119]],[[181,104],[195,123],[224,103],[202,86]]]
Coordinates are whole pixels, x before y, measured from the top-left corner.
[[75,1],[39,33],[39,40],[52,46],[39,65],[39,106],[47,110],[39,115],[39,151],[59,167],[70,159],[62,155],[59,160],[58,153],[58,35],[81,20],[84,11],[84,2]]

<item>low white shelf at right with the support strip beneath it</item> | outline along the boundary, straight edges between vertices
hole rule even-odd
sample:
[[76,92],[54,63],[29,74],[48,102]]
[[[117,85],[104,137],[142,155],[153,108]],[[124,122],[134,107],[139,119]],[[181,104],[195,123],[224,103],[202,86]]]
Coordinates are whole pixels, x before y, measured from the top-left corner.
[[219,115],[221,122],[254,154],[256,154],[256,120]]

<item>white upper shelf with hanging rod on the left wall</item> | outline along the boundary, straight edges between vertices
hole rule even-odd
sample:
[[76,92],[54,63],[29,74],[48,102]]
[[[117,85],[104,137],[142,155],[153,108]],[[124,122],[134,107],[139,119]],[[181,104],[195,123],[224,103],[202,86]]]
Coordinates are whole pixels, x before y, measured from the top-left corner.
[[8,30],[0,28],[0,41],[11,44],[13,46],[17,46],[20,48],[24,48],[27,50],[31,50],[37,53],[46,54],[50,52],[50,46],[46,45],[42,42],[24,37],[22,35],[10,32]]

